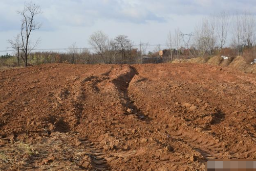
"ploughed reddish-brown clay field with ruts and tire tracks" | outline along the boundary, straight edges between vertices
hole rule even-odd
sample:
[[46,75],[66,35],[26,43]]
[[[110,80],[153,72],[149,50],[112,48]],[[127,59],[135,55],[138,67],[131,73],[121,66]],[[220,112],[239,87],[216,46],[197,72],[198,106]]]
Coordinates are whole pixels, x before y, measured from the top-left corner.
[[204,64],[0,71],[0,170],[204,170],[256,158],[256,77]]

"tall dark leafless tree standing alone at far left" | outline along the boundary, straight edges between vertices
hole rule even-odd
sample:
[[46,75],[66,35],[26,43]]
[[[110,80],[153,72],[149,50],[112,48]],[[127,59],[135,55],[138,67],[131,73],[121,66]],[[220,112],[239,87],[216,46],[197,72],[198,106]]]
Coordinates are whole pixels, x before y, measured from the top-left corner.
[[32,44],[30,41],[30,36],[33,30],[38,30],[41,27],[41,23],[35,21],[35,16],[41,14],[40,6],[33,4],[32,2],[25,3],[24,9],[22,11],[17,11],[19,15],[22,16],[22,27],[20,31],[22,51],[24,55],[21,55],[23,61],[25,62],[25,67],[28,66],[28,55],[29,53],[38,45],[39,39]]

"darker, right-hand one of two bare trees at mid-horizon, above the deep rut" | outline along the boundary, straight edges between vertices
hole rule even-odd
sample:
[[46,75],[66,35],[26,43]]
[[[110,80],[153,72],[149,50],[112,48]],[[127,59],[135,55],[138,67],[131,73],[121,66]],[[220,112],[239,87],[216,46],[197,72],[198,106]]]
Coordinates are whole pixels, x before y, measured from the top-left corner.
[[122,60],[124,63],[126,63],[126,58],[127,58],[126,53],[131,46],[131,40],[129,40],[128,37],[125,35],[119,35],[115,38],[115,41],[118,45],[118,50],[122,55]]

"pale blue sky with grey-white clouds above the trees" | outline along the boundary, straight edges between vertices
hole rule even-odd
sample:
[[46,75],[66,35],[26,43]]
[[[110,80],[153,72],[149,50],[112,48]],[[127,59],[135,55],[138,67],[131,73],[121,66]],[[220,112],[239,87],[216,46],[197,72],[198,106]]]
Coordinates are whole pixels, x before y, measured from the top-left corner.
[[[30,2],[30,1],[27,1]],[[229,11],[255,11],[255,0],[34,0],[42,14],[36,20],[42,28],[32,33],[40,38],[39,48],[66,48],[73,43],[90,47],[95,31],[114,38],[127,35],[134,44],[164,44],[169,31],[179,28],[193,32],[205,16]],[[19,33],[23,0],[0,0],[0,51],[9,46],[7,39]],[[3,53],[2,53],[3,54]]]

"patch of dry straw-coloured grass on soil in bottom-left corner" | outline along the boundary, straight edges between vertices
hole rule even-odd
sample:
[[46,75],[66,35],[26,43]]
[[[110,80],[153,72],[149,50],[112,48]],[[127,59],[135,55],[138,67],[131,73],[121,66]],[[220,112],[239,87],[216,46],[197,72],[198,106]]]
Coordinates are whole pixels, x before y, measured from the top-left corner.
[[86,144],[78,143],[70,134],[57,132],[31,143],[28,139],[9,141],[1,148],[0,171],[83,170],[82,163],[89,163],[83,167],[91,167],[85,155],[89,153]]

